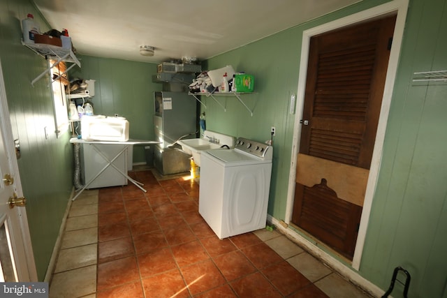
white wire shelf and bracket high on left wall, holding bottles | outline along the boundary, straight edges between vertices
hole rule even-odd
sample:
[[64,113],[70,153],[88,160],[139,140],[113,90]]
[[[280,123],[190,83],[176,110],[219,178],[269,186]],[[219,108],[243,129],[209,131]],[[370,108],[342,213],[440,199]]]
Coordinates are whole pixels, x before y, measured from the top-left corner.
[[22,45],[28,47],[36,54],[39,54],[41,57],[44,57],[45,59],[52,59],[56,62],[52,64],[52,66],[49,66],[46,70],[44,70],[40,75],[38,75],[32,82],[31,85],[34,86],[34,83],[38,80],[41,80],[41,78],[46,74],[49,73],[51,68],[57,66],[62,61],[72,63],[71,66],[68,66],[67,69],[64,71],[64,73],[61,73],[58,77],[52,79],[52,82],[59,79],[62,75],[68,72],[68,70],[71,70],[73,66],[79,66],[81,67],[80,61],[78,58],[76,58],[75,54],[70,49],[65,49],[64,47],[58,47],[57,45],[47,45],[45,43],[24,43],[22,40]]

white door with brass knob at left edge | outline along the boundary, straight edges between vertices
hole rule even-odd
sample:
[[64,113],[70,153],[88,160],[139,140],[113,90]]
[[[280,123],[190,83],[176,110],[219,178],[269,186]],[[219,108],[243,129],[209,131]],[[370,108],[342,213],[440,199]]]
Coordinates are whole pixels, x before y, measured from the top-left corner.
[[0,63],[0,281],[37,281],[9,119]]

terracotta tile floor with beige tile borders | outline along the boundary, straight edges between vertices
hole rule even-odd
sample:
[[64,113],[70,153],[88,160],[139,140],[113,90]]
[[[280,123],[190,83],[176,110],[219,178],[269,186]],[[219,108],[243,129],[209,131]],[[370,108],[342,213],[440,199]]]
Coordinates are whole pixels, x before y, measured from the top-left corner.
[[275,231],[220,240],[193,179],[130,174],[147,193],[129,184],[73,202],[50,297],[368,297]]

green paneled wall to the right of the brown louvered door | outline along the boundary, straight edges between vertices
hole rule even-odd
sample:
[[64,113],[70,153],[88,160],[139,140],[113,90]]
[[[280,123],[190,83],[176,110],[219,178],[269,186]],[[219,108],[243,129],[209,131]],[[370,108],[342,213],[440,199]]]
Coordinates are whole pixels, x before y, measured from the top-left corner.
[[[411,1],[360,271],[378,285],[402,266],[409,297],[447,297],[447,2]],[[395,295],[394,297],[397,297]]]

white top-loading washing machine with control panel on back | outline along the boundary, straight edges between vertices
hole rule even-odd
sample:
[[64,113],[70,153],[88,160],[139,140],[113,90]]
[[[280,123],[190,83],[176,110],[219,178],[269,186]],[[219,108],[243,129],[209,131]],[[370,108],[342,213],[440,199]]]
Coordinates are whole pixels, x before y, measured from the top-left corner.
[[240,137],[234,149],[200,154],[198,211],[217,237],[265,228],[273,147]]

